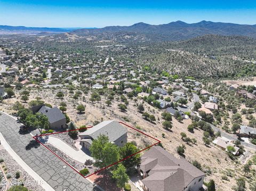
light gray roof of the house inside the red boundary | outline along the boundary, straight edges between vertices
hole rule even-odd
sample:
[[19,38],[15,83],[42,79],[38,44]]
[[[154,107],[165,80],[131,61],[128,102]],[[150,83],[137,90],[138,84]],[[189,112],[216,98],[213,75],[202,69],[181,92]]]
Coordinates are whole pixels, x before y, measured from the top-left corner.
[[97,139],[100,135],[106,135],[110,142],[115,142],[119,137],[127,133],[125,127],[115,120],[103,121],[93,128],[82,132],[79,136],[90,136],[92,139]]

